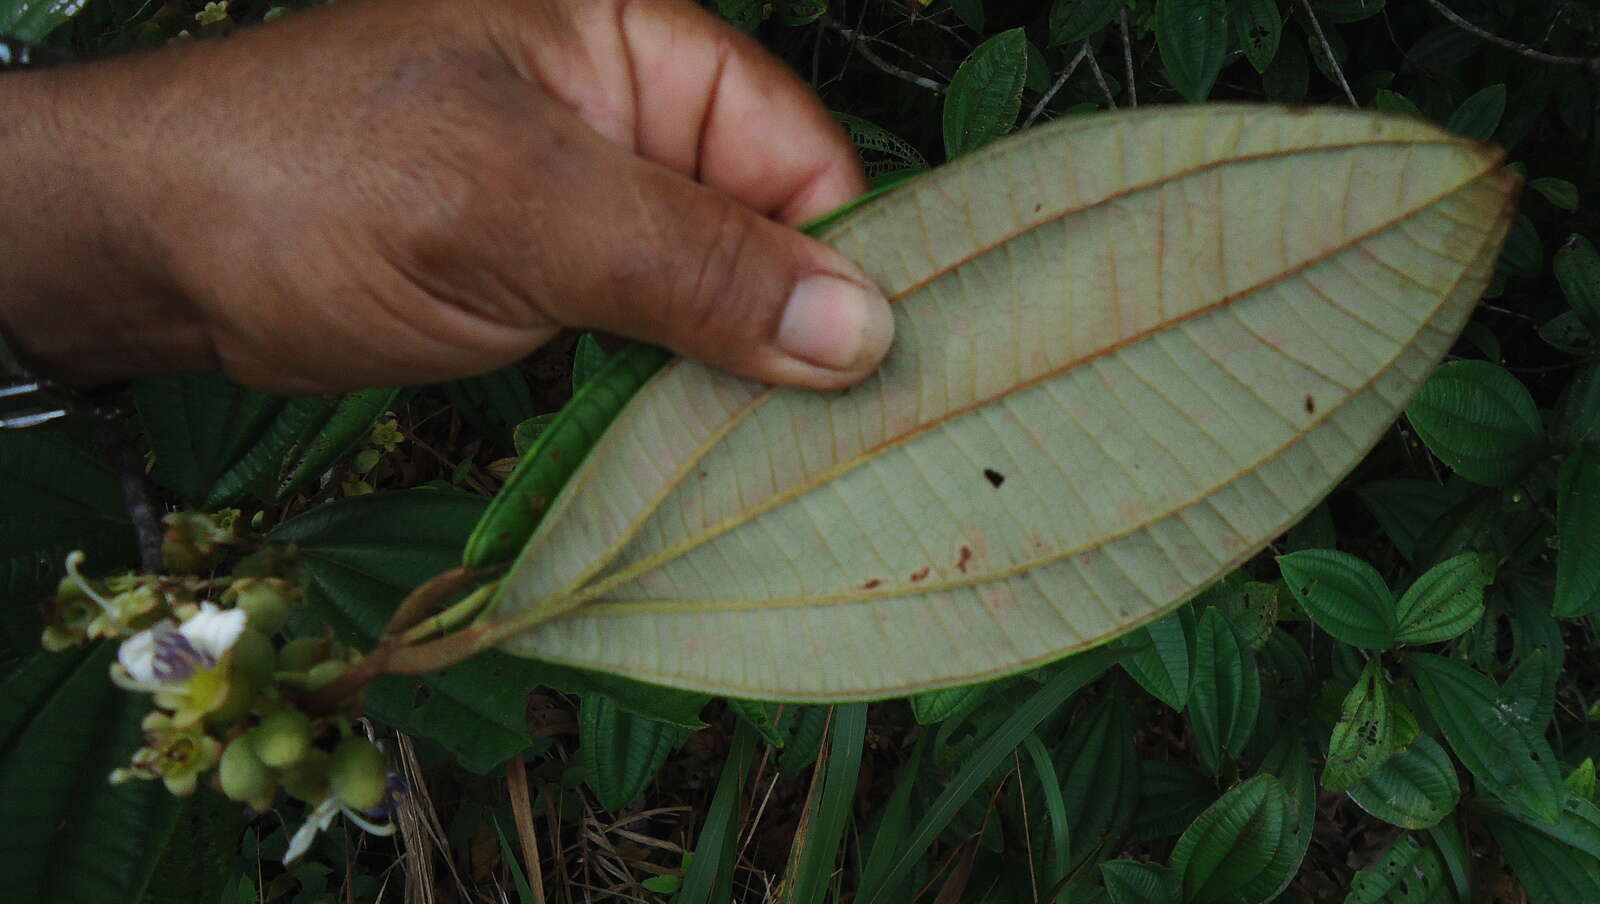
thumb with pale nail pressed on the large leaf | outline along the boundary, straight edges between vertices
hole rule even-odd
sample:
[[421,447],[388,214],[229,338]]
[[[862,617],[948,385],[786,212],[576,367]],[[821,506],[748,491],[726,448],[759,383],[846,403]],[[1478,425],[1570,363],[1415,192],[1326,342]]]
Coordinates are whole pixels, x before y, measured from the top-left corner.
[[[832,248],[643,160],[611,218],[589,216],[598,291],[557,293],[546,314],[666,346],[763,382],[840,389],[894,338],[883,293]],[[626,224],[626,226],[622,226]]]

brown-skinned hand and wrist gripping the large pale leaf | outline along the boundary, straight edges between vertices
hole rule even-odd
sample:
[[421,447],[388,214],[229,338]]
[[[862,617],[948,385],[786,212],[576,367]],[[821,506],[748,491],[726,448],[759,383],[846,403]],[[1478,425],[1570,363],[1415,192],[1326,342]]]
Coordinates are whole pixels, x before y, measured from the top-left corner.
[[686,0],[341,2],[6,75],[0,112],[37,187],[0,210],[0,325],[74,379],[416,384],[586,326],[840,387],[893,336],[789,229],[864,189],[850,142]]

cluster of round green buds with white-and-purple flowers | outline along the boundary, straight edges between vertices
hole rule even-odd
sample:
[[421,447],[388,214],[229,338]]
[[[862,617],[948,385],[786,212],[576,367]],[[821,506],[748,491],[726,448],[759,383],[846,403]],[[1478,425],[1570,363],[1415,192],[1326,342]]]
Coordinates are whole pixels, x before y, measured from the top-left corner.
[[304,602],[298,554],[262,546],[216,576],[230,552],[253,546],[235,538],[232,518],[184,512],[165,523],[173,574],[91,581],[85,555],[74,552],[45,603],[46,650],[118,640],[112,682],[150,694],[144,746],[110,781],[160,779],[187,795],[214,770],[211,786],[256,811],[272,810],[282,790],[309,808],[286,862],[341,813],[368,832],[392,834],[389,813],[405,789],[382,750],[355,730],[360,696],[336,712],[299,704],[360,656],[328,635],[285,637]]

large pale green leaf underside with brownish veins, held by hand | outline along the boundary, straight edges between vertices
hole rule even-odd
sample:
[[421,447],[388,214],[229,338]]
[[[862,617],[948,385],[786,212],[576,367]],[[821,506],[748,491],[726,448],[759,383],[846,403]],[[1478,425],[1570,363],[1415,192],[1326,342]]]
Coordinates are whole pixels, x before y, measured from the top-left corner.
[[512,566],[507,646],[867,699],[1149,622],[1376,442],[1514,189],[1421,122],[1266,107],[1064,120],[920,176],[819,232],[896,301],[883,368],[819,394],[667,365]]

